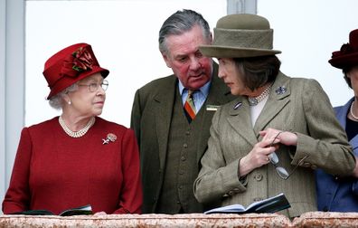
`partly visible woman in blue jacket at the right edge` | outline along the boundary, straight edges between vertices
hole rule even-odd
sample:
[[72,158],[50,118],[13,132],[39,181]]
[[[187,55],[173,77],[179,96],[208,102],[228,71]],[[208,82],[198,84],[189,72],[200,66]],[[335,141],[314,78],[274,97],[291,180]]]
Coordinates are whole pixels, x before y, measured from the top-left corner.
[[[342,69],[344,80],[353,89],[354,97],[344,106],[334,108],[348,140],[353,147],[355,159],[358,160],[358,29],[349,34],[349,43],[341,50],[332,53],[328,61],[332,66]],[[325,212],[358,212],[358,164],[353,174],[339,178],[316,171],[316,188],[318,210]]]

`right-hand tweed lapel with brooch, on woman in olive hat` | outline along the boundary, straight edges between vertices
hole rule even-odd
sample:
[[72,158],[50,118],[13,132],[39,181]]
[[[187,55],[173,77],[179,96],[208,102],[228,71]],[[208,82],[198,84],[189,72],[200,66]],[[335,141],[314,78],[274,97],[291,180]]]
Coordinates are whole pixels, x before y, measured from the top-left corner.
[[256,120],[254,132],[259,137],[259,131],[267,127],[271,119],[274,119],[278,113],[287,105],[290,100],[291,90],[289,80],[281,72],[278,73],[276,81],[269,92],[269,100],[262,109],[259,118]]

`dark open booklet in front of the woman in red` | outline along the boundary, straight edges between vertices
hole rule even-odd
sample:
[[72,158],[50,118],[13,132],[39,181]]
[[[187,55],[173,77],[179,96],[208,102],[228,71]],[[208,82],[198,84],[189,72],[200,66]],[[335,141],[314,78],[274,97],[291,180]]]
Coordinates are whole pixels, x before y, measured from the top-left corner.
[[[47,210],[30,210],[30,211],[23,211],[23,212],[16,212],[13,214],[24,214],[24,215],[56,215]],[[71,215],[81,215],[81,214],[93,214],[92,207],[90,205],[84,205],[76,208],[71,208],[65,210],[59,214],[60,216],[71,216]]]

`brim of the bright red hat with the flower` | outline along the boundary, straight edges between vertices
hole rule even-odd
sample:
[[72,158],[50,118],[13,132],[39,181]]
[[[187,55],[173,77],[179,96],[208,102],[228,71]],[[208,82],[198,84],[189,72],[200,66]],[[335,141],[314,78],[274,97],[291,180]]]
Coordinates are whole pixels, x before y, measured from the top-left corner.
[[47,96],[47,100],[50,100],[54,95],[61,92],[62,90],[65,90],[66,88],[73,85],[77,81],[85,79],[85,78],[89,77],[90,75],[98,73],[98,72],[102,75],[102,77],[104,79],[109,74],[109,71],[107,69],[101,68],[99,66],[93,66],[91,71],[82,72],[82,73],[80,73],[80,75],[78,77],[73,77],[73,78],[72,77],[64,77],[61,81],[58,81],[54,85],[54,87],[50,91],[49,95]]

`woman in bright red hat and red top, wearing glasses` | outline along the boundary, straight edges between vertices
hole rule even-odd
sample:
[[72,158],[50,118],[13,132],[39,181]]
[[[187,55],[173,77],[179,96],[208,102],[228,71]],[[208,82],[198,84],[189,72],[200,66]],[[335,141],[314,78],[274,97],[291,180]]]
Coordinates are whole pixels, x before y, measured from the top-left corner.
[[86,204],[94,213],[140,213],[134,132],[98,117],[108,73],[87,43],[71,45],[45,62],[47,99],[62,113],[23,129],[4,214],[38,209],[60,214]]

